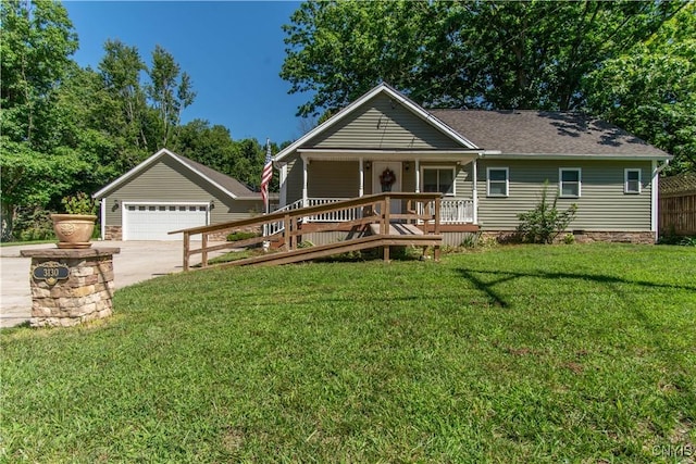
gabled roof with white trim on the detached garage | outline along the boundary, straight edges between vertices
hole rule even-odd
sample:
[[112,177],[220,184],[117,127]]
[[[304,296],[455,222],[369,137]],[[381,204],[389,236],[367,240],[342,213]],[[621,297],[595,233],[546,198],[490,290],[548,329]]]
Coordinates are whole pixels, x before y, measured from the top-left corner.
[[153,155],[151,155],[150,158],[148,158],[147,160],[145,160],[144,162],[135,166],[133,170],[128,171],[127,173],[125,173],[124,175],[122,175],[121,177],[119,177],[117,179],[115,179],[114,181],[112,181],[101,190],[99,190],[98,192],[94,193],[92,197],[103,198],[108,196],[111,191],[126,184],[128,180],[130,180],[133,177],[135,177],[139,173],[148,170],[150,166],[154,165],[164,156],[169,156],[172,160],[176,161],[177,163],[182,164],[188,171],[196,174],[201,179],[212,184],[213,186],[215,186],[216,188],[219,188],[220,190],[222,190],[224,193],[226,193],[233,199],[260,198],[260,193],[249,190],[249,188],[246,187],[244,184],[241,184],[239,180],[232,178],[225,174],[222,174],[215,170],[212,170],[194,160],[189,160],[186,156],[176,154],[165,148],[158,151],[157,153],[154,153]]

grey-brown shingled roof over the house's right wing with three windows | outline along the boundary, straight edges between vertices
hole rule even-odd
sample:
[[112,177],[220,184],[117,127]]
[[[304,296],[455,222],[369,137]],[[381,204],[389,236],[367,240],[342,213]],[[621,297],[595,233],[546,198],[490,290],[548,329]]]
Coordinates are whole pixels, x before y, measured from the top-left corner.
[[478,148],[502,155],[597,155],[668,159],[668,153],[602,121],[580,113],[430,110]]

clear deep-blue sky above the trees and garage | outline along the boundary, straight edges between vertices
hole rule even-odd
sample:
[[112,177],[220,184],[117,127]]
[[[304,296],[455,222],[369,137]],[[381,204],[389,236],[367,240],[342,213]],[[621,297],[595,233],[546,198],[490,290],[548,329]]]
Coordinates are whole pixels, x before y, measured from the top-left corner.
[[299,2],[290,1],[65,1],[79,37],[73,57],[97,66],[107,39],[135,46],[149,65],[156,45],[194,81],[194,104],[183,122],[208,120],[233,139],[266,137],[278,145],[301,134],[297,106],[307,95],[288,95],[278,73],[285,59],[283,24]]

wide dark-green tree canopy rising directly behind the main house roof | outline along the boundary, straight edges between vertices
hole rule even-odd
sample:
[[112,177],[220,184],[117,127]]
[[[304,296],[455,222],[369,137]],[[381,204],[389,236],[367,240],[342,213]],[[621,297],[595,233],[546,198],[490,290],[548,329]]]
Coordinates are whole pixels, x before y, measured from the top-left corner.
[[583,76],[684,3],[306,2],[284,26],[281,76],[335,111],[380,81],[426,106],[575,110]]

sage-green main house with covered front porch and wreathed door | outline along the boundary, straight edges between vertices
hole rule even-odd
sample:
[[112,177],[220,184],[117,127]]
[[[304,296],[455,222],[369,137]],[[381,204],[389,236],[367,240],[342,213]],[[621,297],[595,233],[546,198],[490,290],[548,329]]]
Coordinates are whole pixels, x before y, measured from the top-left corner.
[[[425,110],[378,85],[274,158],[284,208],[383,191],[442,192],[442,230],[512,233],[545,184],[587,240],[654,242],[670,155],[576,113]],[[393,202],[395,209],[403,208]]]

